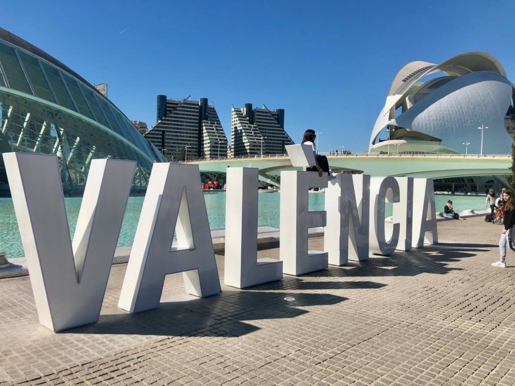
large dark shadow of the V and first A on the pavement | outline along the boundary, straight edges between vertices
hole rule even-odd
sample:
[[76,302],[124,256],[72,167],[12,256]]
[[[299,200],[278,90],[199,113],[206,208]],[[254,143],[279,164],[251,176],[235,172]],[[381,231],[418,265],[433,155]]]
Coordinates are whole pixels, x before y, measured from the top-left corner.
[[[192,296],[193,297],[193,296]],[[286,301],[285,297],[294,297]],[[101,314],[98,323],[61,334],[239,337],[259,327],[247,320],[295,318],[304,307],[333,305],[346,297],[318,293],[224,291],[222,295],[187,302],[162,302],[159,308],[131,314]]]

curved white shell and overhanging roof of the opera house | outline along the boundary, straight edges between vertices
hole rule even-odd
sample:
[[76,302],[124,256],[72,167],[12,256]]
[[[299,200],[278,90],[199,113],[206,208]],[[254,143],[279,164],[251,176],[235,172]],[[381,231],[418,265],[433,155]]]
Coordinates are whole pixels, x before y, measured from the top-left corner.
[[[436,72],[454,76],[431,94],[395,117],[395,110],[415,93],[417,80]],[[419,83],[420,84],[420,83]],[[452,57],[441,64],[411,62],[394,77],[386,103],[375,122],[370,137],[370,150],[379,133],[387,125],[419,131],[442,139],[442,145],[460,149],[462,142],[480,136],[478,126],[488,126],[483,144],[484,153],[508,153],[510,137],[504,117],[511,103],[512,84],[494,57],[473,51]],[[488,136],[506,139],[505,150],[490,143]],[[485,141],[486,139],[486,141]],[[479,152],[479,142],[477,141]],[[503,147],[502,145],[501,147]]]

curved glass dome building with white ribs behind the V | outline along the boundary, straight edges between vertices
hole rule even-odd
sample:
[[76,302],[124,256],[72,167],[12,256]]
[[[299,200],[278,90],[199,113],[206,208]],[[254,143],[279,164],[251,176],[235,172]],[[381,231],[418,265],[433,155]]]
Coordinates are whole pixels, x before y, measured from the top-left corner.
[[[0,153],[55,154],[66,190],[83,189],[92,159],[138,162],[133,185],[147,185],[165,161],[114,104],[80,75],[0,28]],[[0,190],[7,190],[0,157]]]

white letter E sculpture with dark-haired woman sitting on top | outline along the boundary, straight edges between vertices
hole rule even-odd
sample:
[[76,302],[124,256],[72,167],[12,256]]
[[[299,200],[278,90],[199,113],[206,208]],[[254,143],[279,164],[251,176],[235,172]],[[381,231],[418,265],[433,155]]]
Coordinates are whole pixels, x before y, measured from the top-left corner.
[[307,229],[325,226],[325,211],[308,210],[309,188],[327,187],[314,171],[281,172],[280,249],[283,273],[302,275],[327,268],[328,254],[307,250]]

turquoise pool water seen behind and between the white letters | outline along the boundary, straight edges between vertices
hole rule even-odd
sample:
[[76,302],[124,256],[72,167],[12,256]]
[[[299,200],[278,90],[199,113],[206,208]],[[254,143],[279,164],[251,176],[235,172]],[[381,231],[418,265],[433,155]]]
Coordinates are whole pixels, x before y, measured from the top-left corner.
[[[268,226],[279,227],[279,199],[280,194],[277,192],[260,192],[259,194],[259,210],[258,222]],[[207,192],[204,194],[205,206],[208,209],[209,225],[211,228],[225,226],[225,205],[226,195],[224,191]],[[484,196],[436,196],[436,210],[443,211],[443,206],[447,200],[453,200],[454,210],[461,212],[465,209],[484,209]],[[118,246],[124,247],[132,245],[134,233],[138,220],[140,218],[141,207],[143,205],[143,196],[130,197],[127,203],[122,223],[122,230],[118,238]],[[81,197],[67,197],[64,199],[66,204],[66,212],[68,222],[70,223],[70,233],[73,237],[77,217],[79,215]],[[310,210],[323,210],[324,195],[322,193],[310,193]],[[389,213],[388,213],[389,212]],[[387,216],[391,215],[391,206],[387,206]],[[0,199],[0,252],[6,252],[8,258],[24,256],[20,232],[18,231],[18,223],[14,215],[14,207],[10,198]]]

